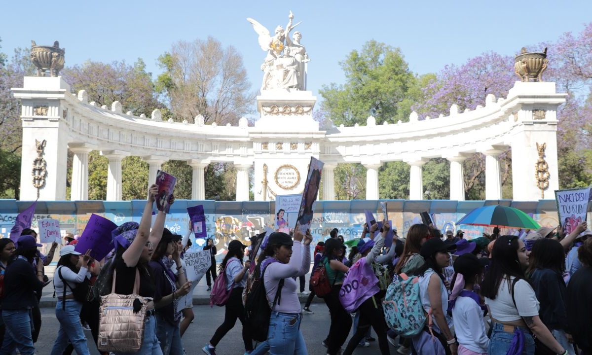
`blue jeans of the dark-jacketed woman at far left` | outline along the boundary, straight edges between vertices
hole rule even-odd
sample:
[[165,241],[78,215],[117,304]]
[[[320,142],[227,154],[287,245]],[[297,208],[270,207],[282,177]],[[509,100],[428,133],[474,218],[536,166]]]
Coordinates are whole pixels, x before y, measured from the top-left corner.
[[12,354],[15,348],[18,348],[21,355],[33,355],[35,348],[33,347],[33,335],[31,335],[33,328],[31,310],[26,308],[2,309],[2,320],[6,325],[6,333],[4,333],[0,355]]

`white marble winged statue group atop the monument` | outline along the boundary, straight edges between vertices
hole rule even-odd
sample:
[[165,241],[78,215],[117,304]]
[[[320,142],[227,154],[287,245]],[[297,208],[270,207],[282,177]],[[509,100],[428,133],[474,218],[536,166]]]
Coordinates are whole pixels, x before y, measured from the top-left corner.
[[261,91],[271,89],[306,90],[306,63],[309,62],[308,53],[300,40],[302,34],[294,32],[292,39],[289,33],[302,22],[292,25],[294,15],[290,11],[286,28],[278,26],[274,35],[269,33],[258,21],[247,18],[253,25],[253,30],[259,35],[259,46],[267,51],[265,60],[261,64],[263,83]]

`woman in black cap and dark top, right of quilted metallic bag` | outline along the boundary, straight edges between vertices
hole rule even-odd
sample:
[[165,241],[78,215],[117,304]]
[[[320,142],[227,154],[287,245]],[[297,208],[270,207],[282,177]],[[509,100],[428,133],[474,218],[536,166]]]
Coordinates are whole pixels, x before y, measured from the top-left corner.
[[[154,305],[156,309],[156,337],[160,342],[163,355],[182,355],[183,344],[179,321],[181,312],[177,312],[179,298],[191,289],[181,264],[181,248],[177,242],[181,235],[170,233],[167,228],[149,263],[155,283]],[[177,274],[170,267],[175,264]],[[167,297],[172,295],[172,297]]]

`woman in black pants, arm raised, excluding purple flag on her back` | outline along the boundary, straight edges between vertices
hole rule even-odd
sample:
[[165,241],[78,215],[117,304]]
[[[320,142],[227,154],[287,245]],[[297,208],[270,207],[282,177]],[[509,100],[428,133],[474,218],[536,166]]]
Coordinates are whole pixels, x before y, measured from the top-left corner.
[[[358,267],[369,267],[371,272],[374,272],[372,269],[372,263],[377,262],[377,257],[382,251],[382,247],[384,246],[384,238],[387,236],[388,230],[390,229],[390,224],[388,221],[384,221],[382,225],[382,235],[379,235],[375,240],[372,239],[374,233],[371,233],[370,238],[363,238],[358,242],[358,255],[352,260],[355,264],[357,264],[358,260],[364,259],[363,264],[359,264]],[[392,251],[393,253],[387,254],[383,260],[385,262],[392,262],[392,256],[394,255],[394,248],[397,241],[397,237],[393,238],[392,243]],[[352,269],[353,270],[353,269]],[[350,273],[351,275],[351,273]],[[382,355],[390,354],[390,350],[388,348],[388,340],[387,340],[387,322],[384,320],[384,311],[382,310],[382,297],[380,295],[381,291],[378,288],[378,292],[374,295],[370,295],[369,298],[366,299],[358,308],[359,312],[359,321],[358,327],[356,327],[356,331],[353,334],[352,338],[349,340],[348,346],[346,346],[345,351],[343,351],[343,355],[350,355],[355,350],[356,346],[366,337],[368,334],[368,330],[370,327],[374,328],[378,336],[378,346],[380,348],[380,352]],[[367,297],[366,295],[365,297]]]

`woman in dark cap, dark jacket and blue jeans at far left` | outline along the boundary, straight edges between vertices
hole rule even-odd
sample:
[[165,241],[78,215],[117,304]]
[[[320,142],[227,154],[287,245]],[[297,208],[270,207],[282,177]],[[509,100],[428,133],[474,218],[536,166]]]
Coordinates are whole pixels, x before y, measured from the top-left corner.
[[35,353],[31,308],[37,305],[35,293],[41,293],[43,288],[43,263],[37,260],[37,269],[32,263],[40,246],[33,236],[21,235],[17,241],[17,259],[6,268],[2,299],[2,320],[6,325],[6,333],[1,354],[12,354],[15,348],[22,355]]

